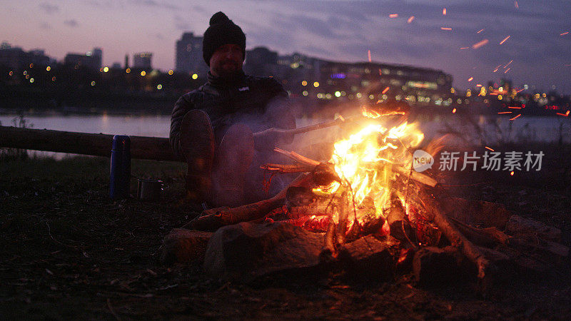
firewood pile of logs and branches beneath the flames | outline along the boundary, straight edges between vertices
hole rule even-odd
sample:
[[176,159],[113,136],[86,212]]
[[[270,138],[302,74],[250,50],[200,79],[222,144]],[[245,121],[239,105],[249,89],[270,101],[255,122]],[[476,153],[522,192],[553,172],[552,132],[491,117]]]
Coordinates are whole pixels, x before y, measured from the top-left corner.
[[[405,128],[402,121],[397,125]],[[355,168],[340,169],[346,164],[338,160],[315,161],[276,148],[294,163],[262,167],[300,173],[298,178],[269,200],[206,210],[189,224],[191,230],[166,237],[163,261],[203,260],[207,272],[243,280],[332,264],[366,275],[407,267],[427,285],[468,271],[485,289],[496,278],[545,273],[568,260],[560,230],[499,204],[451,197],[437,180],[402,161],[416,138],[387,142],[391,135],[382,135],[390,148],[378,148],[373,158],[358,156],[363,183],[355,183],[358,174],[348,175]],[[198,254],[188,254],[196,248]]]

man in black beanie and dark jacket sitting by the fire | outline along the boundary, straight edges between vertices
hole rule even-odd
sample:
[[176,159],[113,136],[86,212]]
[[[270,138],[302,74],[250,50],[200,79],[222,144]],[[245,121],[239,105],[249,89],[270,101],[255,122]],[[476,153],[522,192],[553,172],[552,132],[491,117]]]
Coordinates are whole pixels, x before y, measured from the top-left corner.
[[173,108],[171,148],[188,163],[186,193],[197,203],[233,207],[261,200],[260,158],[281,140],[254,140],[253,132],[295,128],[288,93],[271,77],[246,75],[245,54],[242,29],[222,12],[214,14],[203,37],[208,81]]

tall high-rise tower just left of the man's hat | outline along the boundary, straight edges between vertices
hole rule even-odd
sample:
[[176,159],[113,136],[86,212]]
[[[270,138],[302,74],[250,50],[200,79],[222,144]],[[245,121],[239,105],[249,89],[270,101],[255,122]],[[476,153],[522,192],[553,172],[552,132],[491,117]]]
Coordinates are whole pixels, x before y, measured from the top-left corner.
[[192,32],[185,32],[181,39],[176,41],[176,71],[206,75],[208,66],[202,58],[202,41],[203,37],[196,37]]

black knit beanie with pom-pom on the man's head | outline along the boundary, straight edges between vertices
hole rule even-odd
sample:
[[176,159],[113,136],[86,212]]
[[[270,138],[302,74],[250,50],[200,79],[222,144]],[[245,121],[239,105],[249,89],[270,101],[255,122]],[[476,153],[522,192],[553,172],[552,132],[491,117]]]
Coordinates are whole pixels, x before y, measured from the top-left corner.
[[218,11],[210,19],[210,26],[204,32],[202,41],[202,56],[208,66],[214,51],[225,44],[238,45],[242,49],[242,59],[246,58],[246,35],[226,14]]

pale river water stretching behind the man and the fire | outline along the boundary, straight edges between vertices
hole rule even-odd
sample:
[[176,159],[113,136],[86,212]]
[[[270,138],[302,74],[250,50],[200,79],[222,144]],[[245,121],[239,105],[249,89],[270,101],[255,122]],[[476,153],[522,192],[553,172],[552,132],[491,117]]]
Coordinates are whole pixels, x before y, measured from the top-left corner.
[[[47,114],[24,116],[27,128],[52,129],[56,131],[76,131],[81,133],[106,133],[136,136],[168,137],[170,115],[69,115]],[[326,119],[297,120],[298,127]],[[438,138],[445,133],[453,133],[453,141],[472,145],[497,146],[507,142],[557,142],[571,143],[571,119],[568,117],[521,116],[510,121],[500,116],[419,115],[415,120],[425,133],[425,139]],[[21,126],[18,116],[0,115],[2,126]],[[321,130],[323,131],[323,130]],[[325,139],[326,135],[313,133],[312,139]],[[301,138],[300,138],[301,139]],[[54,153],[41,153],[54,156]],[[61,155],[56,154],[57,158]]]

